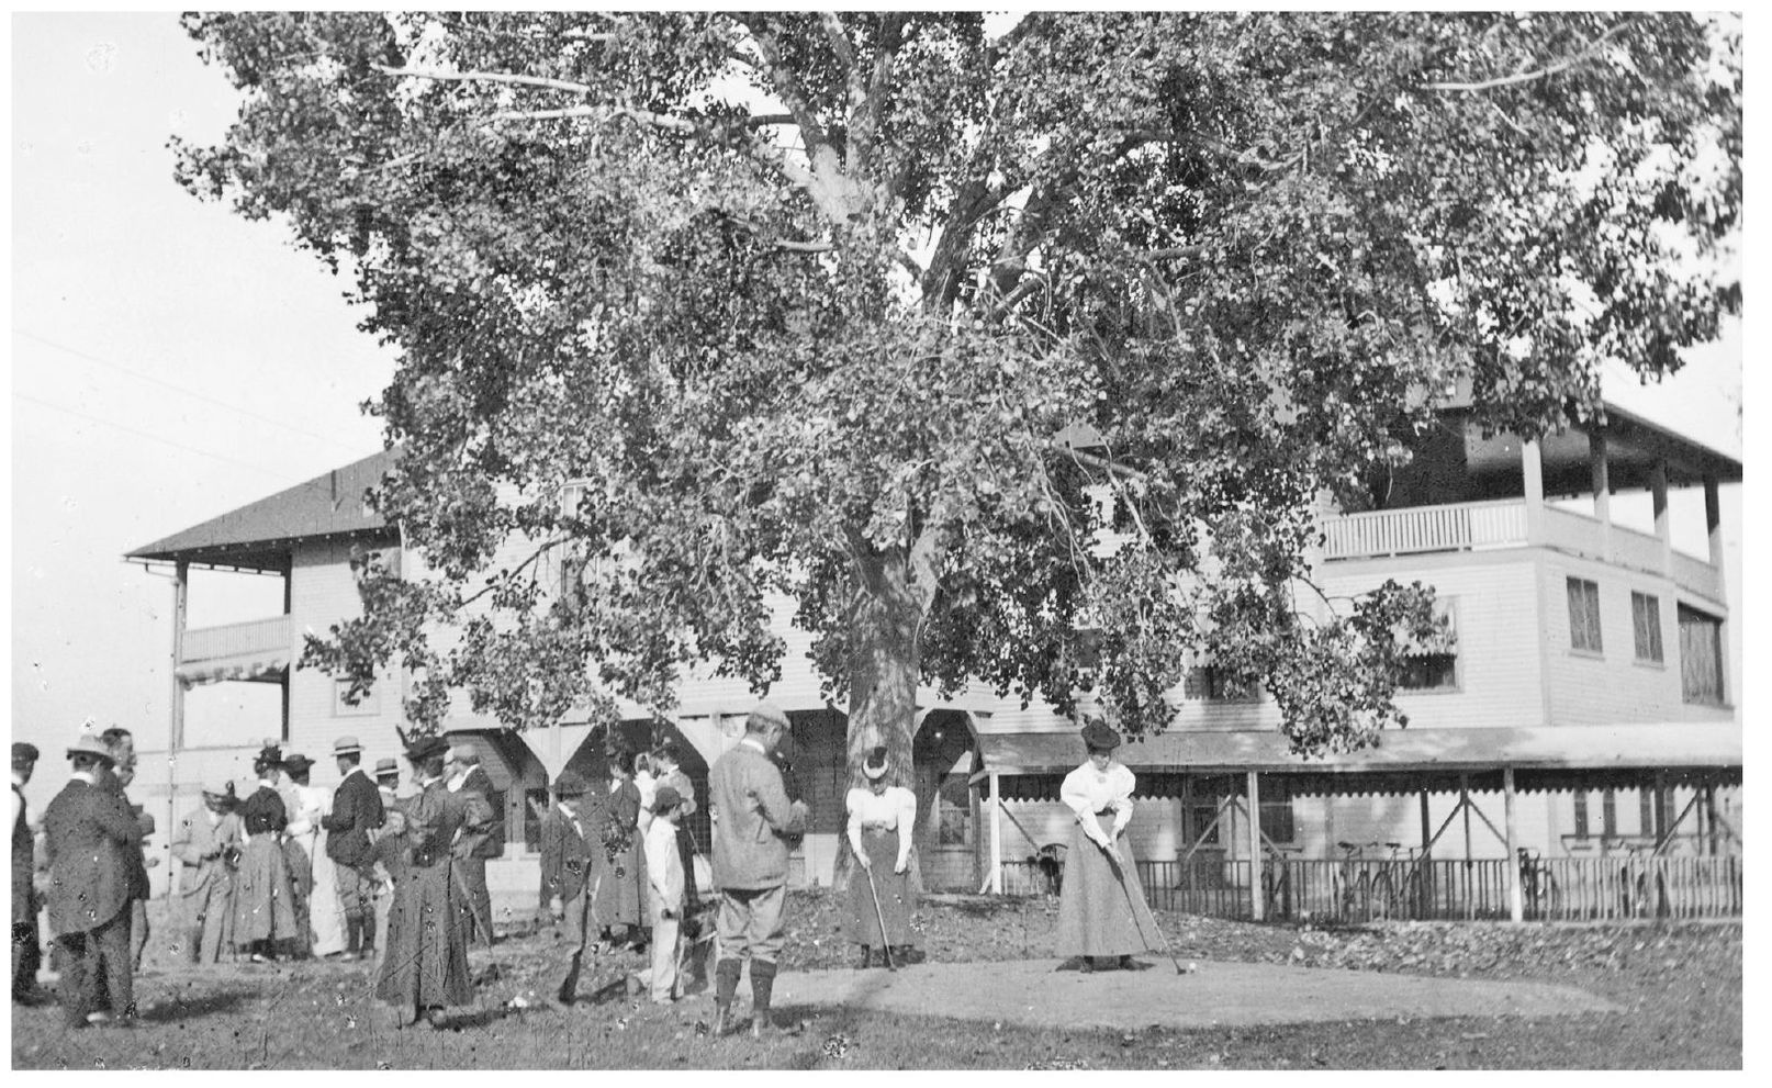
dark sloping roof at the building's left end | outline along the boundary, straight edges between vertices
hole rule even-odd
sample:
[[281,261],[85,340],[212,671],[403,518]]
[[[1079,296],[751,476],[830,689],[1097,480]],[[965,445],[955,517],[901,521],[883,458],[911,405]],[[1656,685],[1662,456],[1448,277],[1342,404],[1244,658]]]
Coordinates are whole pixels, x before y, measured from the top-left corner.
[[197,562],[253,571],[287,571],[289,546],[314,537],[381,533],[388,523],[363,501],[363,493],[381,484],[399,450],[383,450],[296,484],[269,498],[229,510],[144,544],[124,558]]

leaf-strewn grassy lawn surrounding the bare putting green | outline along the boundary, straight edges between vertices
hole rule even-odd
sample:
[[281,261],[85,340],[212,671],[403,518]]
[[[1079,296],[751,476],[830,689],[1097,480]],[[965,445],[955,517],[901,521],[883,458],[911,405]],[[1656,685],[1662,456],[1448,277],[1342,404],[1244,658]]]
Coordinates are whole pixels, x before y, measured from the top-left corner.
[[[161,904],[152,904],[161,907]],[[927,902],[930,959],[1049,957],[1047,900]],[[711,1038],[703,994],[672,1008],[629,1001],[604,957],[581,999],[546,1003],[556,978],[548,936],[510,939],[475,964],[493,975],[480,1006],[450,1030],[395,1031],[351,964],[167,968],[158,936],[138,980],[144,1026],[67,1033],[55,1008],[12,1010],[14,1069],[1740,1069],[1738,925],[1510,929],[1389,925],[1301,930],[1161,916],[1187,959],[1290,962],[1325,969],[1533,978],[1600,994],[1625,1012],[1556,1019],[1411,1019],[1170,1031],[1047,1031],[838,1008],[776,1010],[764,1042]],[[852,962],[829,893],[790,902],[783,969]],[[167,932],[159,927],[159,932]],[[909,968],[914,969],[914,968]],[[594,987],[604,992],[590,999]],[[748,987],[741,985],[741,1006]]]

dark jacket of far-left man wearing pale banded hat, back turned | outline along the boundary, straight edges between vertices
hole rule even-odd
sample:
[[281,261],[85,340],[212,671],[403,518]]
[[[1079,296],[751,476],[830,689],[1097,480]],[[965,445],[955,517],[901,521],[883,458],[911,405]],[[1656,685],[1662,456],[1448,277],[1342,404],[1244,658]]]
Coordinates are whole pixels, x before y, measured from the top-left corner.
[[120,792],[74,778],[50,801],[43,829],[55,932],[90,932],[129,907],[142,826]]

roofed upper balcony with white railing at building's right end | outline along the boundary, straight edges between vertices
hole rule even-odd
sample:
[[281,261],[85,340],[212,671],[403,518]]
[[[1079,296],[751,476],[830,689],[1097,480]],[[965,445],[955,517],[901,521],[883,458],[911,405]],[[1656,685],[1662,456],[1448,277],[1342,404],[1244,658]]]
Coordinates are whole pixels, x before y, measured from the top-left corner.
[[[1373,482],[1380,509],[1324,519],[1324,558],[1549,548],[1659,574],[1722,604],[1717,487],[1740,478],[1740,461],[1611,406],[1597,425],[1542,441],[1485,434],[1449,413],[1416,443],[1409,466]],[[1675,546],[1669,489],[1680,486],[1703,487],[1708,558]],[[1653,533],[1613,517],[1614,496],[1632,491],[1648,494]],[[1563,498],[1591,514],[1554,505]]]

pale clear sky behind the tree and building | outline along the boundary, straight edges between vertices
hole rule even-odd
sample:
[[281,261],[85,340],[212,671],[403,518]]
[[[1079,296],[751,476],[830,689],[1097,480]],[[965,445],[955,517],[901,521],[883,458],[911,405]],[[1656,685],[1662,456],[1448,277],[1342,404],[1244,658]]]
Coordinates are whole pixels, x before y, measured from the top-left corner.
[[[175,16],[14,16],[11,57],[12,737],[48,753],[90,718],[152,748],[170,712],[172,587],[120,556],[377,450],[358,404],[393,356],[284,225],[174,183],[168,136],[216,142],[234,115]],[[1607,390],[1738,454],[1740,360],[1733,326],[1680,377]],[[1740,514],[1726,489],[1735,617]],[[193,574],[191,626],[278,611],[280,579]],[[268,698],[275,686],[197,689],[188,742],[275,725]]]

